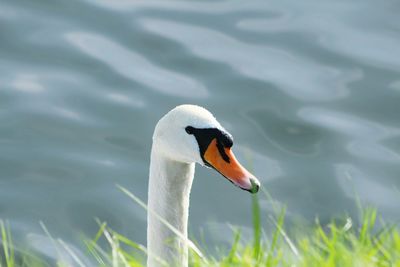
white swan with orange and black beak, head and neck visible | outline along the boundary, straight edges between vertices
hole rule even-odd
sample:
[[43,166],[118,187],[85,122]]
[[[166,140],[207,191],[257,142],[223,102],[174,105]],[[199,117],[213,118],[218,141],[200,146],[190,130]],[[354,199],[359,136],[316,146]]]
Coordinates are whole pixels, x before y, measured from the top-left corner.
[[200,106],[177,106],[159,120],[150,157],[148,267],[160,266],[160,259],[169,266],[188,266],[187,225],[195,163],[215,169],[241,189],[258,191],[259,181],[236,160],[232,145],[232,136]]

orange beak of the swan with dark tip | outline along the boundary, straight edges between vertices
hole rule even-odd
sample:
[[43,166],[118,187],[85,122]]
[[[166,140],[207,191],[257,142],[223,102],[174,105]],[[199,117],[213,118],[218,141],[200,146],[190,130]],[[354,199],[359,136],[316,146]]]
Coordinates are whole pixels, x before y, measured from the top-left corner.
[[251,193],[257,193],[260,188],[257,178],[239,163],[230,147],[223,149],[224,156],[218,149],[217,139],[213,139],[204,153],[204,159],[236,186]]

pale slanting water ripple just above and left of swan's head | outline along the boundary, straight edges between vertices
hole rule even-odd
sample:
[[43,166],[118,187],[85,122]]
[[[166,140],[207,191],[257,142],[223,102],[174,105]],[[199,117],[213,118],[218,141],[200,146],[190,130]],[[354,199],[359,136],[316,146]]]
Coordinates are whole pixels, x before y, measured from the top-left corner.
[[65,37],[85,54],[106,63],[120,75],[147,85],[150,89],[188,98],[203,98],[208,95],[207,89],[200,82],[156,66],[142,55],[104,36],[71,32]]

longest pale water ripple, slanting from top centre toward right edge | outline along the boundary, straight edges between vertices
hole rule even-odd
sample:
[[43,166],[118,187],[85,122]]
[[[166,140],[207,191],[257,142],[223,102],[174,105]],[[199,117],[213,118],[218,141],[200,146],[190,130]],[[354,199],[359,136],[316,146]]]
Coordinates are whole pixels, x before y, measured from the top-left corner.
[[301,100],[347,96],[346,84],[362,77],[359,70],[321,65],[285,50],[242,42],[215,29],[150,18],[140,22],[148,31],[179,42],[201,58],[227,64],[249,78],[272,82]]

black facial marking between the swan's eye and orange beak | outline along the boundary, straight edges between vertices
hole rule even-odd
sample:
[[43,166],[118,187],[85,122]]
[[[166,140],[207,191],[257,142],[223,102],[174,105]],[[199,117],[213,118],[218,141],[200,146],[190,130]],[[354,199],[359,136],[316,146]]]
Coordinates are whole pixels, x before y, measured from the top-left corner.
[[221,157],[226,161],[230,162],[228,155],[225,153],[224,148],[230,148],[233,145],[232,136],[229,133],[223,132],[217,128],[195,128],[192,126],[187,126],[185,128],[188,134],[193,134],[197,140],[200,149],[200,156],[203,159],[203,162],[212,167],[205,159],[204,154],[208,146],[210,145],[213,139],[217,139],[217,148]]

